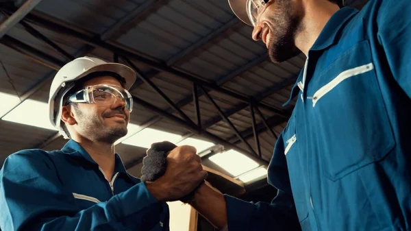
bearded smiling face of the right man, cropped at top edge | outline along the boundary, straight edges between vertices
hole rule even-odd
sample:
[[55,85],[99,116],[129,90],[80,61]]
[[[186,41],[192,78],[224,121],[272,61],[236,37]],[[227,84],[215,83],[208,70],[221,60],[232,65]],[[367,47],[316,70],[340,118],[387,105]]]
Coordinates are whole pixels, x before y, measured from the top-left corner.
[[295,36],[303,28],[303,6],[298,0],[271,0],[253,29],[253,39],[262,40],[273,62],[284,62],[301,51],[295,47]]

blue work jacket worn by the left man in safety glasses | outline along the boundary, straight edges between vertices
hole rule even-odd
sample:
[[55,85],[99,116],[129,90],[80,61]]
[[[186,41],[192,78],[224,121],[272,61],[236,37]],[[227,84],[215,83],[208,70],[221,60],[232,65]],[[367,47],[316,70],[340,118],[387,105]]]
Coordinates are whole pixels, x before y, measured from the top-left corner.
[[0,228],[169,230],[169,207],[129,175],[116,155],[111,182],[75,141],[58,151],[10,155],[0,171]]

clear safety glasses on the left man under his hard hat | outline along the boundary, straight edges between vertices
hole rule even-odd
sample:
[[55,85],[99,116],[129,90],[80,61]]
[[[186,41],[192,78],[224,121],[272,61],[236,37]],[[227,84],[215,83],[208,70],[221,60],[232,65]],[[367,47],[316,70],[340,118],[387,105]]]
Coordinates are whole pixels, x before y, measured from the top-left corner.
[[125,108],[132,112],[132,95],[130,95],[128,90],[114,85],[99,84],[86,86],[84,89],[71,95],[68,102],[112,105],[119,99],[125,103]]

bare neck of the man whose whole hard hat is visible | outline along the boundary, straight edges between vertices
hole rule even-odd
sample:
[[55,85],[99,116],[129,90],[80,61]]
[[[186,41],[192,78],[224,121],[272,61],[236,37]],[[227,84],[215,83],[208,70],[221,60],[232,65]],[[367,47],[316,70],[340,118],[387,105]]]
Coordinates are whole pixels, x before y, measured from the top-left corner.
[[114,144],[90,141],[86,138],[73,138],[97,162],[103,170],[105,178],[111,181],[114,173],[115,156]]

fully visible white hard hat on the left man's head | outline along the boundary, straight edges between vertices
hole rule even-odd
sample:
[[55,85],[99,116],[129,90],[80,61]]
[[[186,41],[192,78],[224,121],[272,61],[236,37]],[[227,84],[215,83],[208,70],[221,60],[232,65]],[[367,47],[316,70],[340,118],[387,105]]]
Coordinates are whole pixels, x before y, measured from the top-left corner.
[[80,80],[82,77],[96,71],[111,71],[120,75],[125,79],[125,88],[127,90],[136,81],[136,73],[133,69],[115,62],[104,62],[99,58],[81,57],[65,64],[55,74],[49,95],[50,122],[64,138],[69,138],[60,126],[64,95],[75,86],[75,80]]

